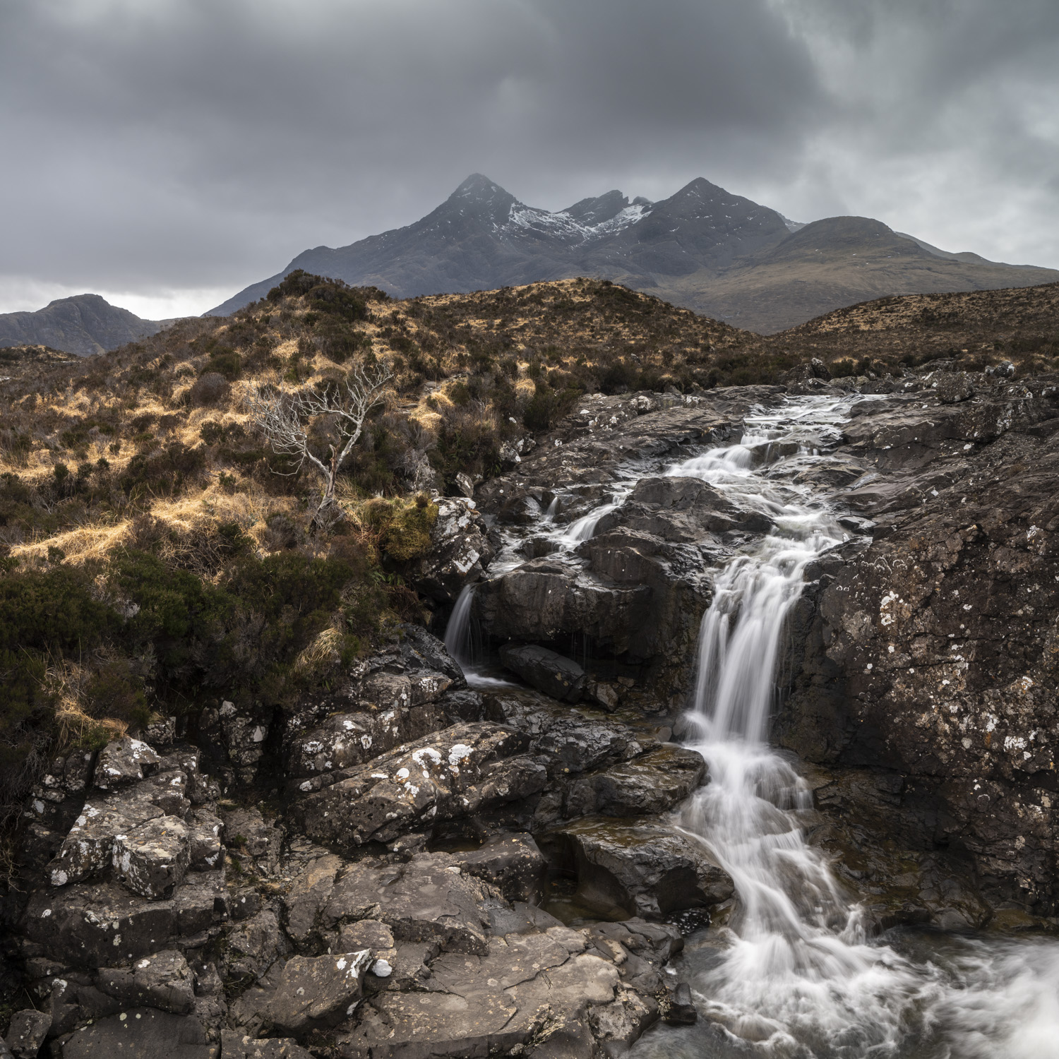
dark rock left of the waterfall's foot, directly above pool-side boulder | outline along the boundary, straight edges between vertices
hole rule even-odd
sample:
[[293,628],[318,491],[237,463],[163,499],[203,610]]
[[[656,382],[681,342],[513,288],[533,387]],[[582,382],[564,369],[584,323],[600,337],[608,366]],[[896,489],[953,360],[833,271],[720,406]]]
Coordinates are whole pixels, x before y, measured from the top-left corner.
[[567,792],[569,816],[636,816],[667,812],[699,787],[702,755],[667,746],[631,761],[581,776]]

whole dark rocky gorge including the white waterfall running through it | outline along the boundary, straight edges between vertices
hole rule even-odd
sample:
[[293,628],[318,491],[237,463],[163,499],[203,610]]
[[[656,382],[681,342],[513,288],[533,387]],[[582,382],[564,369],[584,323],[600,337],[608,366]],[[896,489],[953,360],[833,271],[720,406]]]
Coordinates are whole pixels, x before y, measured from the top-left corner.
[[1059,380],[803,374],[584,397],[445,501],[444,643],[50,762],[13,1026],[64,1059],[1054,1051],[1059,946],[993,928],[1059,900]]

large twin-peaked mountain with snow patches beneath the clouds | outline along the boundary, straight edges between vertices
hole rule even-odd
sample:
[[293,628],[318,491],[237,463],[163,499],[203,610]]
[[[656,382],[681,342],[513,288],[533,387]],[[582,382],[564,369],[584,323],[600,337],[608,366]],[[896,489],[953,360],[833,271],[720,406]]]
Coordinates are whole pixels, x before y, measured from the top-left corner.
[[395,298],[586,275],[761,334],[889,294],[1059,280],[1054,269],[949,253],[867,217],[797,225],[701,177],[660,202],[611,191],[552,213],[474,174],[415,223],[306,250],[207,315],[263,298],[295,268]]

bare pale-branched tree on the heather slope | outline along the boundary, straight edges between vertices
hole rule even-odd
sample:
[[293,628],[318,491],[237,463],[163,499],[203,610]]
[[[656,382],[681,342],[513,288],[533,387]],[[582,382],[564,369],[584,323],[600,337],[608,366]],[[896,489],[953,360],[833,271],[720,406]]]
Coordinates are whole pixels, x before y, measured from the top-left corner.
[[292,392],[266,392],[258,387],[250,391],[251,420],[265,432],[273,452],[298,461],[287,473],[299,473],[307,461],[321,478],[323,496],[312,517],[315,524],[324,521],[334,505],[339,469],[357,444],[369,413],[385,399],[392,378],[388,364],[357,365],[343,383]]

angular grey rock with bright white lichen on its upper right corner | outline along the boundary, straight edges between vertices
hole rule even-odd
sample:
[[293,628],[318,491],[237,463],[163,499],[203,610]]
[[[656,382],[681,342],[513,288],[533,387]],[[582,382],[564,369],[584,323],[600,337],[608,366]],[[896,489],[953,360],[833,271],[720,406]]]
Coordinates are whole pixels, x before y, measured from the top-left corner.
[[360,1002],[363,974],[372,963],[366,950],[336,955],[293,956],[283,968],[268,1018],[280,1029],[304,1033],[349,1018]]

